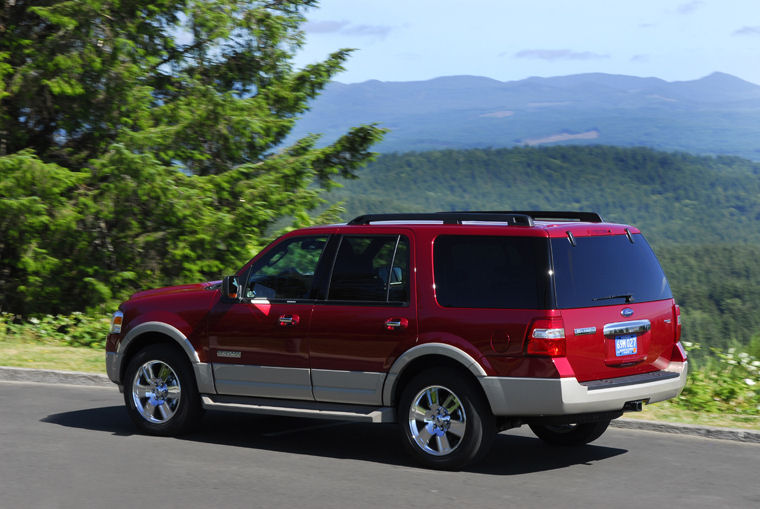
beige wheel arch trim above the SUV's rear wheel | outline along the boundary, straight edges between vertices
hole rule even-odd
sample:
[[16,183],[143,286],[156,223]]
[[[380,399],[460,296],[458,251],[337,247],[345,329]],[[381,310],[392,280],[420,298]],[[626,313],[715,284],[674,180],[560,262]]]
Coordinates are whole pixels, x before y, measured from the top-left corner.
[[479,379],[486,376],[486,372],[471,355],[446,343],[425,343],[410,348],[393,363],[383,386],[383,405],[395,406],[409,380],[417,373],[434,367],[461,371],[483,389]]

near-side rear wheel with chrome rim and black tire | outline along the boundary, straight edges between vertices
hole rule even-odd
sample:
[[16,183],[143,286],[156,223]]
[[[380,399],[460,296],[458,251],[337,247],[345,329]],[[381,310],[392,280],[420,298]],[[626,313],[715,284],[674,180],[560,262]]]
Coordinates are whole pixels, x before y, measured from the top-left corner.
[[397,411],[405,449],[429,468],[456,470],[475,463],[496,436],[480,387],[455,370],[416,375],[404,387]]

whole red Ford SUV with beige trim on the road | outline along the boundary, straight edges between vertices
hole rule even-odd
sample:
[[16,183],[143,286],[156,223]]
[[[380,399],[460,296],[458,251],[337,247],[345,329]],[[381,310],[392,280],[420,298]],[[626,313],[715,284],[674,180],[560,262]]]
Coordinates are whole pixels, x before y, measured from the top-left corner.
[[589,212],[360,216],[280,237],[223,281],[148,290],[106,346],[141,430],[203,409],[398,422],[460,468],[527,424],[564,445],[677,396],[681,321],[638,229]]

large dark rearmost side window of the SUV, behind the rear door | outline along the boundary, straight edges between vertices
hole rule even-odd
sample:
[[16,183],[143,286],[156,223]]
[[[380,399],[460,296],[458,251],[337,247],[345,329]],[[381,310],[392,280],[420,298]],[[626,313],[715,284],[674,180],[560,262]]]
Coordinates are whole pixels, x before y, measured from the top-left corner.
[[444,235],[436,239],[433,256],[441,306],[551,307],[547,239]]

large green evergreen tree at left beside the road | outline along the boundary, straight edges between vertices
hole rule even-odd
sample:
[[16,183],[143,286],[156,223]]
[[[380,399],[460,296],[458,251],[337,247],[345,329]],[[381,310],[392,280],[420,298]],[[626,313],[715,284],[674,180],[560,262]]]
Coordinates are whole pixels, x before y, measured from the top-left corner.
[[0,311],[218,277],[283,218],[307,224],[382,136],[359,126],[326,147],[316,135],[283,147],[349,55],[293,67],[315,5],[5,0]]

